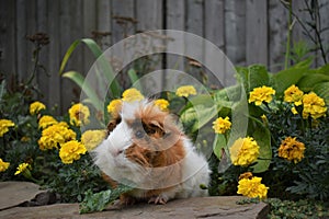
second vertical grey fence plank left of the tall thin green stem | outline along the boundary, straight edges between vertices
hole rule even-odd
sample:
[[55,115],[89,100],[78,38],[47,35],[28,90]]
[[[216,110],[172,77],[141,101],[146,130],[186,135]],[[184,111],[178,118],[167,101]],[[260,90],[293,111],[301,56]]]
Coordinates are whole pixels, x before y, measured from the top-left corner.
[[246,61],[268,65],[268,2],[247,0]]

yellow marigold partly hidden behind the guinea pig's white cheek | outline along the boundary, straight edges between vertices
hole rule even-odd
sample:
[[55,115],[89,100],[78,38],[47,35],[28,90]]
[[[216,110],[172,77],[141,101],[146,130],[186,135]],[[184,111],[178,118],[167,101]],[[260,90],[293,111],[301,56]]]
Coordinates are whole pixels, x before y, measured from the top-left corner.
[[81,143],[88,151],[98,147],[106,137],[106,130],[87,130],[81,136]]

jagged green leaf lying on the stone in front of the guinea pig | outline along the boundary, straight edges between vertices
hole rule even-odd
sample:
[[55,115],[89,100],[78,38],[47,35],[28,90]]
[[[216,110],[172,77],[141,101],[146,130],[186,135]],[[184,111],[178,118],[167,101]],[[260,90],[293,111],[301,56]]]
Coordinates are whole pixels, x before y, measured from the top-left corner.
[[84,199],[80,203],[80,214],[102,211],[107,205],[116,200],[120,195],[132,191],[133,187],[120,184],[114,189],[102,191],[93,194],[88,191],[84,195]]

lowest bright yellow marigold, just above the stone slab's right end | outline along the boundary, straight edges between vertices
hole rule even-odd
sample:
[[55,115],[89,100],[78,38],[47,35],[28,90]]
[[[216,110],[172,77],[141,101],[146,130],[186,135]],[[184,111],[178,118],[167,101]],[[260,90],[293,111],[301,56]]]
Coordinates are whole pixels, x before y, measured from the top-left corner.
[[269,187],[262,184],[261,181],[262,178],[257,176],[251,178],[243,177],[239,181],[237,193],[249,198],[266,198]]

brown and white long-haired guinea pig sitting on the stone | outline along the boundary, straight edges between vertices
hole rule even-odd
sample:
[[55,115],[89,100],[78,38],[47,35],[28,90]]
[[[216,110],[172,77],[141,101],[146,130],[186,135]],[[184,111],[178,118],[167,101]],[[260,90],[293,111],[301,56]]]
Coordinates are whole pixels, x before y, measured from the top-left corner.
[[166,204],[173,198],[207,195],[200,186],[209,182],[207,161],[173,116],[152,101],[124,102],[107,129],[109,137],[92,154],[112,186],[133,183],[135,188],[122,195],[122,204]]

